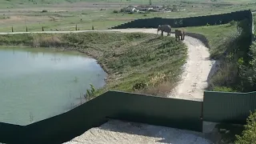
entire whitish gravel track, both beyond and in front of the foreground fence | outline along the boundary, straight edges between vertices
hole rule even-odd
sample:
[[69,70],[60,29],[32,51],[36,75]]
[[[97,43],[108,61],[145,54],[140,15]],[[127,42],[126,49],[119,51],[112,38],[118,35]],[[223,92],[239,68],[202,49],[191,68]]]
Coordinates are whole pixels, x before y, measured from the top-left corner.
[[[78,33],[81,31],[44,31],[34,33]],[[96,31],[96,30],[94,30]],[[156,34],[156,29],[125,29],[125,30],[98,30],[98,31],[121,31],[143,32]],[[25,32],[26,33],[26,32]],[[30,32],[28,32],[30,33]],[[22,33],[0,33],[22,34]],[[174,34],[171,34],[174,36]],[[210,73],[212,62],[206,46],[198,39],[186,36],[184,40],[188,47],[188,59],[184,66],[182,81],[170,93],[170,97],[190,100],[202,100],[203,89],[207,86],[207,77]],[[135,124],[133,122],[110,121],[102,126],[87,130],[84,134],[72,139],[66,144],[82,143],[173,143],[173,144],[210,144],[200,133],[189,130],[178,130],[162,126]]]

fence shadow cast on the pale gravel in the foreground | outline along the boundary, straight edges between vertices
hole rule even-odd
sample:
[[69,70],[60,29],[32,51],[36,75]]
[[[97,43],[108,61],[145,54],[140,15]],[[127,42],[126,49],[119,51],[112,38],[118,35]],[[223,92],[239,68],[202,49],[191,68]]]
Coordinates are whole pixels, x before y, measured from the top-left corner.
[[[179,130],[164,126],[151,126],[138,122],[124,122],[110,120],[107,124],[98,127],[101,130],[108,130],[117,133],[134,134],[151,138],[158,138],[155,142],[162,143],[211,143],[204,135],[190,130]],[[208,142],[207,142],[208,141]]]

